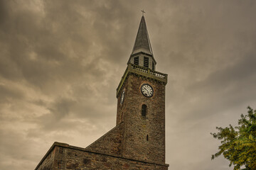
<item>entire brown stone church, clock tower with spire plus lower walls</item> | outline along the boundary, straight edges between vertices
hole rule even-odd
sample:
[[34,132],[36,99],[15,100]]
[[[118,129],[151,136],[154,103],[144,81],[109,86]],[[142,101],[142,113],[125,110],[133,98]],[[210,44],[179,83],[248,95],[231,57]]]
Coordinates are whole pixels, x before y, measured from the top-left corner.
[[36,166],[50,169],[167,170],[165,164],[165,86],[156,72],[144,16],[127,69],[117,87],[117,122],[82,148],[55,142]]

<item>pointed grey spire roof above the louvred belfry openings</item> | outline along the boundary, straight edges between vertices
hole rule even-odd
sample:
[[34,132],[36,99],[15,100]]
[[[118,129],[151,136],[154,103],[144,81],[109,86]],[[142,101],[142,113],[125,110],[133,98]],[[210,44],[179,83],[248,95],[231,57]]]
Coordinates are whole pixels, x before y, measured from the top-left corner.
[[145,52],[146,54],[153,56],[144,16],[142,16],[142,20],[139,23],[139,30],[132,49],[132,55],[137,52]]

